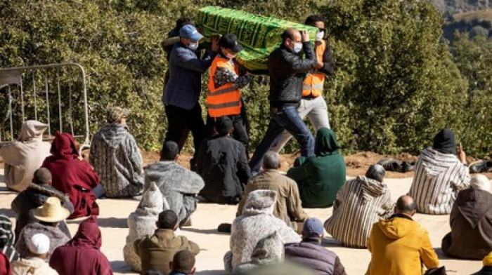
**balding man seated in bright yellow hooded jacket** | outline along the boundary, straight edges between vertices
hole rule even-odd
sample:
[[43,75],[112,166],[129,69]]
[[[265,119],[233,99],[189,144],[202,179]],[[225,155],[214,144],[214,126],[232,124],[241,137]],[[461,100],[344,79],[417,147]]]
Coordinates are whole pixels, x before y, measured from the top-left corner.
[[412,219],[413,215],[412,197],[401,196],[394,214],[374,224],[368,239],[371,260],[366,275],[422,274],[422,264],[427,269],[439,266],[429,233]]

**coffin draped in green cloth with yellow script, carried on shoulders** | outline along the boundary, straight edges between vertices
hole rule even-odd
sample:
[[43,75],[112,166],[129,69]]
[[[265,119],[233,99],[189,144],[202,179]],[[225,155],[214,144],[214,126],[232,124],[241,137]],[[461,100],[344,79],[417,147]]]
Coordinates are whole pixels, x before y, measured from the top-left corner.
[[311,41],[315,41],[318,32],[316,27],[215,6],[200,8],[198,27],[205,37],[229,33],[238,36],[244,51],[236,60],[255,74],[266,73],[268,55],[282,43],[280,34],[285,29],[306,29]]

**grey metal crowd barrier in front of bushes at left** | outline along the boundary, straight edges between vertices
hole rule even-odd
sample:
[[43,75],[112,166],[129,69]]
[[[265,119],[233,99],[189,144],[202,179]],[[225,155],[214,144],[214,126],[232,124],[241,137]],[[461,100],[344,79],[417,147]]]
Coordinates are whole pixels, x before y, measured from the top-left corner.
[[[58,104],[53,104],[53,95]],[[90,146],[86,75],[81,65],[63,63],[0,69],[0,96],[8,98],[3,104],[0,101],[4,106],[3,111],[0,109],[0,116],[4,116],[0,118],[0,145],[13,142],[20,124],[34,119],[48,124],[44,140],[53,140],[53,134],[59,130],[84,139],[80,151]]]

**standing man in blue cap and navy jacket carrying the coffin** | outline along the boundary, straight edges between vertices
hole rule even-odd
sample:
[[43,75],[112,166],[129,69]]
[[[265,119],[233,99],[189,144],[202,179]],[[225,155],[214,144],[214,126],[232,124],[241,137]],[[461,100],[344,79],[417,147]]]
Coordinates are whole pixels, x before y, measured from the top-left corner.
[[[195,154],[205,137],[205,123],[198,99],[201,92],[202,74],[212,65],[217,51],[218,39],[212,39],[212,51],[202,59],[197,49],[203,36],[193,25],[184,25],[179,29],[179,42],[174,45],[169,56],[169,81],[164,88],[162,102],[167,116],[167,133],[164,142],[179,142],[184,130],[193,134]],[[194,169],[194,159],[191,168]]]

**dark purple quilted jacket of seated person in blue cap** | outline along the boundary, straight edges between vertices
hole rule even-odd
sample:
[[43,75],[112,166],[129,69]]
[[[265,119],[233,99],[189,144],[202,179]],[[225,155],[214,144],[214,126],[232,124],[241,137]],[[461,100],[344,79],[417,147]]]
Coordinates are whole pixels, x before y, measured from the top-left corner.
[[316,239],[286,243],[285,260],[309,267],[320,275],[347,275],[339,257],[321,246]]

